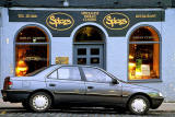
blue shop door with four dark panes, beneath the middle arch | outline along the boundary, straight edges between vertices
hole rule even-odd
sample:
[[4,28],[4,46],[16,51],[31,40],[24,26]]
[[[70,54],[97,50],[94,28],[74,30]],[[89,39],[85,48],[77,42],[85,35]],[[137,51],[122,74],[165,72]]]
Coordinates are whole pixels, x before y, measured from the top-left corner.
[[104,68],[104,45],[74,45],[73,63]]

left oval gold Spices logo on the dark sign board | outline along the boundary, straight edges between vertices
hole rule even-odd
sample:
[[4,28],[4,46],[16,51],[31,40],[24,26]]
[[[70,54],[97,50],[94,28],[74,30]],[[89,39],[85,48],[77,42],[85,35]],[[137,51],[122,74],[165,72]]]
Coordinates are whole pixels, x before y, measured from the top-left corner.
[[57,31],[66,31],[73,26],[74,20],[71,15],[62,12],[51,13],[47,20],[46,24]]

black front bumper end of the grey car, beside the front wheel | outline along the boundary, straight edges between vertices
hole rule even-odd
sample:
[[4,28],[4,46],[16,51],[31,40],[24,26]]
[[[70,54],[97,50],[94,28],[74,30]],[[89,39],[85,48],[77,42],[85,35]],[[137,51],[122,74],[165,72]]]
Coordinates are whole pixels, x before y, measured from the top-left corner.
[[156,109],[158,107],[161,106],[161,104],[163,103],[164,98],[163,97],[159,97],[159,98],[152,98],[152,105],[151,108],[152,109]]

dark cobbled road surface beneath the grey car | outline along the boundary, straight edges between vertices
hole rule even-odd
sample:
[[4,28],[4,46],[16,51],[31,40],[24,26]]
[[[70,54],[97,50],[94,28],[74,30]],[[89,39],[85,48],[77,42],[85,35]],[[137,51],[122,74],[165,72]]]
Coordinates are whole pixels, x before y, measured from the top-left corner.
[[[150,110],[148,115],[137,117],[174,117],[175,113]],[[117,113],[112,109],[50,109],[46,113],[31,113],[23,108],[0,109],[0,117],[136,117],[129,113]]]

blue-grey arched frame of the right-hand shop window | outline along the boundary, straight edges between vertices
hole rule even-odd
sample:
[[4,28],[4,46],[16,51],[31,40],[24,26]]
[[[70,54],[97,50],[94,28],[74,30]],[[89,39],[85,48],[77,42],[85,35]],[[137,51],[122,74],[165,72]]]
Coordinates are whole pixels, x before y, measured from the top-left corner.
[[[158,34],[158,37],[159,37],[159,42],[130,42],[130,38],[131,38],[131,35],[132,33],[135,33],[137,30],[139,30],[140,27],[144,27],[144,26],[148,26],[148,27],[151,27],[156,34]],[[129,47],[130,47],[130,44],[159,44],[159,79],[144,79],[144,80],[130,80],[129,79]],[[132,32],[130,33],[129,37],[128,37],[128,52],[127,52],[127,82],[129,83],[148,83],[148,82],[162,82],[162,36],[160,34],[160,32],[151,26],[151,25],[140,25],[138,27],[136,27],[135,30],[132,30]]]

